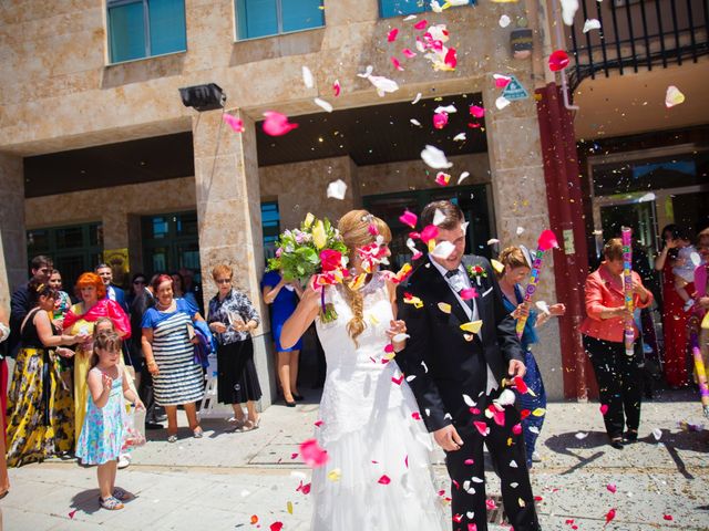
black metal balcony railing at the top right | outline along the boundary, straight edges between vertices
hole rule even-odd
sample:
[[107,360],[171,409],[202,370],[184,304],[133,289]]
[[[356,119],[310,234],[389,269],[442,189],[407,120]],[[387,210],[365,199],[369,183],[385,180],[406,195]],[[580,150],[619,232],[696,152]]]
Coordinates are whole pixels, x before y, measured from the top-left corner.
[[[572,90],[586,77],[697,62],[709,53],[709,0],[580,0],[571,28]],[[599,30],[583,32],[588,19]]]

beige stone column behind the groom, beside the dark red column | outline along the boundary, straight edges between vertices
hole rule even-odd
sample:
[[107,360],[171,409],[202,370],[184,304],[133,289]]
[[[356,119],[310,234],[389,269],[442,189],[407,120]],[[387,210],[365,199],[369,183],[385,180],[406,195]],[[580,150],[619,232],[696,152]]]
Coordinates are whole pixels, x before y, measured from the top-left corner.
[[[534,85],[530,73],[515,72],[530,93],[527,100],[512,102],[497,110],[495,100],[502,90],[495,88],[491,79],[484,84],[485,127],[492,173],[497,238],[501,249],[507,246],[526,246],[532,252],[536,239],[549,228],[546,202],[544,163],[540,142],[540,125],[534,102]],[[517,228],[524,229],[517,235]],[[561,235],[557,235],[561,239]],[[552,254],[544,257],[536,301],[556,302]],[[551,320],[538,329],[540,343],[533,347],[542,371],[549,399],[564,398],[562,353],[557,320]]]

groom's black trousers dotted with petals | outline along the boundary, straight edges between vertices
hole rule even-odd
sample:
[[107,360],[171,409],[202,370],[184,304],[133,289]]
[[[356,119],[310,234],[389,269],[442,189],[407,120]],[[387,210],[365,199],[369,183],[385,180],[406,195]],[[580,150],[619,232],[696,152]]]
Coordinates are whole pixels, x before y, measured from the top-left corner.
[[[497,395],[499,392],[493,392],[493,396]],[[487,447],[494,469],[500,476],[502,500],[510,524],[515,531],[541,529],[526,468],[524,439],[521,426],[515,427],[521,421],[520,413],[514,406],[506,406],[504,409],[504,426],[499,426],[494,419],[485,417],[484,412],[472,415],[465,426],[455,426],[463,439],[463,446],[458,451],[445,452],[445,465],[452,480],[453,531],[487,529],[483,444]],[[483,436],[473,425],[473,420],[485,423],[490,433]],[[473,523],[476,528],[469,525]]]

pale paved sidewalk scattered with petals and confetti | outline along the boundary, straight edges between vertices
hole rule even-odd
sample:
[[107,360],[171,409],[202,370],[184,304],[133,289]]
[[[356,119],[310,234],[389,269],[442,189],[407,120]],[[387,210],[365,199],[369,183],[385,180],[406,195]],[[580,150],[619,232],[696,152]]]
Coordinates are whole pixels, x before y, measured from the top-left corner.
[[[709,426],[696,398],[677,392],[645,404],[641,440],[621,451],[605,444],[597,404],[549,404],[543,461],[532,475],[543,528],[600,530],[616,509],[607,530],[709,530],[709,431],[678,427],[681,420]],[[203,423],[203,439],[188,438],[185,429],[183,439],[168,444],[164,430],[148,431],[156,440],[119,471],[119,485],[137,496],[122,511],[99,509],[95,470],[74,461],[12,469],[11,492],[0,502],[4,529],[269,530],[282,522],[284,531],[307,530],[311,499],[297,487],[310,473],[291,457],[312,436],[317,418],[315,404],[276,405],[251,433],[226,433],[228,423],[220,419]],[[661,430],[659,441],[654,429]],[[441,457],[436,452],[436,479],[446,487]],[[500,492],[492,472],[487,492]]]

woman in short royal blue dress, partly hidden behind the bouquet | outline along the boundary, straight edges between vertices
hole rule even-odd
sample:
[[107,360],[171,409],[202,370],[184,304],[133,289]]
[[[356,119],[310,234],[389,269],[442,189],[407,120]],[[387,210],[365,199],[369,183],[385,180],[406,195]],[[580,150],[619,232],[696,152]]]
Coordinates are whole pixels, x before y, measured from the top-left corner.
[[302,400],[298,393],[298,356],[302,348],[302,339],[291,348],[284,348],[280,344],[280,331],[298,305],[302,288],[298,282],[286,281],[277,271],[269,271],[261,280],[264,302],[270,304],[270,330],[276,342],[278,356],[278,379],[284,392],[284,399],[288,407],[296,407],[296,402]]

